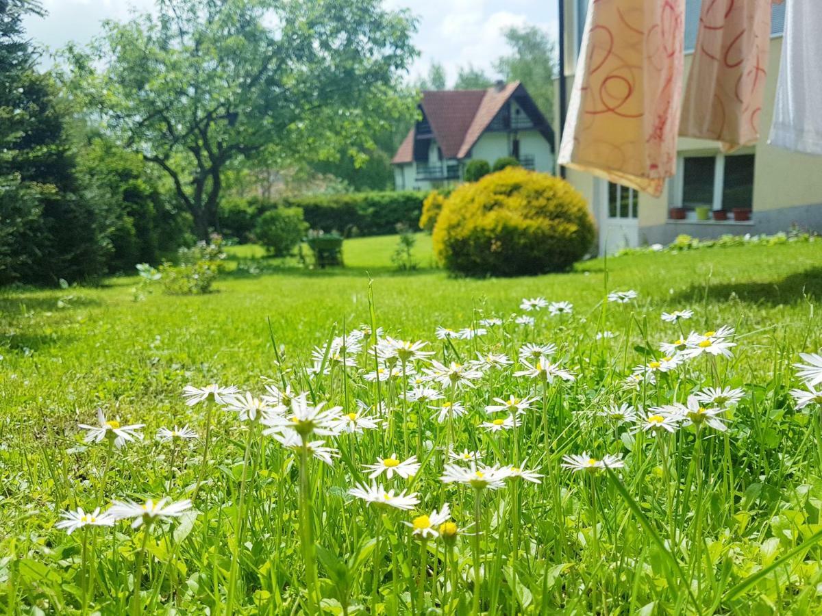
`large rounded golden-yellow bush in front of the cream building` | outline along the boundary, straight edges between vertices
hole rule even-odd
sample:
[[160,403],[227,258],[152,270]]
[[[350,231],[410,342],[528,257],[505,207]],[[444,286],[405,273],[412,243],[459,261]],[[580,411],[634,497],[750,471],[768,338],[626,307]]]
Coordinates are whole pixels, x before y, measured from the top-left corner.
[[452,272],[520,276],[570,268],[593,236],[588,205],[568,182],[510,167],[452,192],[433,241]]

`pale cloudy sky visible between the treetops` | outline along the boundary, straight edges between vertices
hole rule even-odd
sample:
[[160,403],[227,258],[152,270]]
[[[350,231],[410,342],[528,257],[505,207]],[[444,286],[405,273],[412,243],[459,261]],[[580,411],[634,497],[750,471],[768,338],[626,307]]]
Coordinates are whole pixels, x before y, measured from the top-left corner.
[[[469,63],[492,75],[493,62],[507,53],[501,32],[511,25],[535,25],[556,40],[556,0],[384,1],[386,7],[411,8],[420,20],[414,39],[420,57],[412,78],[427,74],[432,62],[446,67],[449,81]],[[48,16],[30,16],[25,26],[32,39],[54,51],[69,41],[88,43],[100,21],[127,19],[130,10],[150,10],[155,0],[43,0],[43,5]]]

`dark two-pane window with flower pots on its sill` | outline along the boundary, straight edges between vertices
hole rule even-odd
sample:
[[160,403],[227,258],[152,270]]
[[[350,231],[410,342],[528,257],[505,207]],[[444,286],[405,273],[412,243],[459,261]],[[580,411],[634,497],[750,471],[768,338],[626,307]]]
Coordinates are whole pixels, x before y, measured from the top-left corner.
[[752,209],[755,154],[684,156],[679,160],[671,206]]

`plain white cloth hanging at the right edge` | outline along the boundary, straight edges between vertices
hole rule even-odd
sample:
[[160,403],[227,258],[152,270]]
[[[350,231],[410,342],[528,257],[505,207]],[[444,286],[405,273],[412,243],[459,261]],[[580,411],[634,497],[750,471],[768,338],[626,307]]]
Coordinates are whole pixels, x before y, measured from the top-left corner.
[[788,0],[769,143],[822,154],[822,2]]

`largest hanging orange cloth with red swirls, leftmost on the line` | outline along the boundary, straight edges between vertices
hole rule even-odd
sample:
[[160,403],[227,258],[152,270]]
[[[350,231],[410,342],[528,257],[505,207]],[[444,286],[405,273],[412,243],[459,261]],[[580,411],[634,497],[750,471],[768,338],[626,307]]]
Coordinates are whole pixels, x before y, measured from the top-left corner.
[[660,195],[677,168],[685,0],[592,0],[559,163]]

